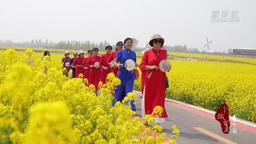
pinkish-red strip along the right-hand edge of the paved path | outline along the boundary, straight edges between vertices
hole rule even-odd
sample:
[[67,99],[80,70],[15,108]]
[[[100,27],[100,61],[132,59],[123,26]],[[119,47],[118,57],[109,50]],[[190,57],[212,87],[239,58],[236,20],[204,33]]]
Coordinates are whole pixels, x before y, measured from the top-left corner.
[[[138,92],[136,92],[136,93],[141,95],[141,93],[138,93]],[[176,103],[176,102],[172,102],[170,100],[165,100],[165,103],[166,104],[170,104],[172,106],[175,106],[177,108],[181,108],[183,110],[192,112],[194,114],[198,114],[198,115],[204,116],[206,118],[210,118],[212,120],[215,120],[214,114],[212,114],[212,113],[205,112],[203,110],[199,110],[199,109],[196,109],[196,108],[193,108],[193,107],[190,107],[190,106],[186,106],[184,104],[179,104],[179,103]],[[230,124],[231,124],[231,119],[230,119]],[[241,130],[244,130],[246,132],[250,132],[252,134],[256,134],[256,128],[255,127],[249,126],[247,124],[243,124],[241,122],[236,122],[235,128],[240,128]]]

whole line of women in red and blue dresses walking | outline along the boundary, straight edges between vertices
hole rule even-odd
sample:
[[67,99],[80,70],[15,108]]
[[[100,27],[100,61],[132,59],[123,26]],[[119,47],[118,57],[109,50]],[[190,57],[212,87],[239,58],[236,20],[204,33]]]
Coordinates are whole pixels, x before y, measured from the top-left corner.
[[[166,60],[167,52],[162,50],[164,38],[159,34],[154,34],[150,41],[152,48],[144,52],[142,61],[139,64],[136,62],[136,53],[132,51],[132,39],[126,38],[123,42],[116,43],[116,51],[112,52],[112,46],[106,46],[106,54],[98,56],[98,48],[88,50],[88,57],[84,58],[84,52],[74,52],[74,58],[69,57],[69,52],[65,52],[65,57],[62,58],[63,68],[66,68],[64,75],[68,76],[68,71],[73,70],[73,78],[78,78],[79,74],[83,74],[87,78],[89,84],[94,84],[96,92],[98,83],[102,81],[106,83],[106,76],[113,72],[117,78],[121,80],[121,85],[116,86],[113,105],[116,102],[122,102],[129,92],[133,91],[134,86],[134,70],[127,70],[124,65],[126,60],[133,60],[135,67],[139,67],[142,71],[142,117],[146,114],[152,114],[156,106],[163,108],[162,115],[156,118],[155,124],[165,122],[167,113],[164,107],[166,95],[166,74],[159,68],[161,60]],[[124,47],[124,48],[123,48]],[[69,67],[69,68],[68,68]],[[127,102],[128,103],[128,102]],[[136,111],[134,100],[130,102],[131,109]],[[145,122],[145,125],[147,123]]]

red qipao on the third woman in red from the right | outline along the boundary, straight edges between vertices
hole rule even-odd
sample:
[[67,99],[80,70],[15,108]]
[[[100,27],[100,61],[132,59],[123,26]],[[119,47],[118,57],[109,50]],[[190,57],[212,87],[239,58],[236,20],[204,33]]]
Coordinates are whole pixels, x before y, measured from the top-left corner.
[[111,68],[107,64],[109,56],[110,56],[110,54],[106,53],[106,54],[103,54],[100,58],[100,66],[101,67],[104,66],[104,67],[108,68],[108,70],[104,70],[103,68],[101,69],[101,78],[100,79],[103,84],[106,84],[107,75],[111,72]]

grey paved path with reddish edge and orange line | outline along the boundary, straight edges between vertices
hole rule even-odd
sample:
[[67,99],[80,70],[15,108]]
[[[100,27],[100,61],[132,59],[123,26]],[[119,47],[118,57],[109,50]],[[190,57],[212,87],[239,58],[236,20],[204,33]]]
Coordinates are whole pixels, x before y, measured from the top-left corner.
[[[139,98],[141,93],[136,92],[136,94],[136,113],[137,116],[142,117],[142,98]],[[170,100],[166,100],[165,108],[169,118],[160,126],[170,138],[172,125],[177,125],[180,136],[175,140],[178,144],[256,144],[254,123],[237,120],[235,125],[237,134],[231,133],[233,125],[230,125],[230,133],[224,134],[220,123],[214,118],[214,112]],[[231,120],[230,124],[232,124]]]

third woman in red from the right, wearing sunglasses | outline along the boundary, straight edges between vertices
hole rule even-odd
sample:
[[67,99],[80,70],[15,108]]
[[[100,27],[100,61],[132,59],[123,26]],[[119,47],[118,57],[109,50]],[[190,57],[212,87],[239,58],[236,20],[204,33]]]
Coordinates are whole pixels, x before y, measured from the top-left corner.
[[101,69],[101,81],[103,84],[106,84],[106,78],[107,75],[111,72],[110,66],[107,64],[108,58],[110,56],[110,53],[112,52],[112,46],[108,45],[106,46],[106,54],[103,54],[100,58],[100,66],[102,67]]

